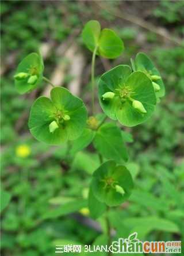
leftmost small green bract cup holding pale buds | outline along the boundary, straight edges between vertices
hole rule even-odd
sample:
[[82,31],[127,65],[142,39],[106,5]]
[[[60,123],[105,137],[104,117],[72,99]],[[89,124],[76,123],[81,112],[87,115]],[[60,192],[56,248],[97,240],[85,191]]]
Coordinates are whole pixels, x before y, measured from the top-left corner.
[[17,91],[20,94],[32,91],[43,78],[43,60],[40,54],[31,53],[18,65],[14,75]]

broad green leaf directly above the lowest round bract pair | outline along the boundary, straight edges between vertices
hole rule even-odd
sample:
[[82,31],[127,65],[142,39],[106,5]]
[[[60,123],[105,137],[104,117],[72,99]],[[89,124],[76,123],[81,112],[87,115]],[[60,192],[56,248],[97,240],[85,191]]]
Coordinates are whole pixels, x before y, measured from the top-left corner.
[[121,130],[116,124],[101,125],[94,137],[94,147],[107,159],[118,163],[128,160],[128,153],[121,136]]

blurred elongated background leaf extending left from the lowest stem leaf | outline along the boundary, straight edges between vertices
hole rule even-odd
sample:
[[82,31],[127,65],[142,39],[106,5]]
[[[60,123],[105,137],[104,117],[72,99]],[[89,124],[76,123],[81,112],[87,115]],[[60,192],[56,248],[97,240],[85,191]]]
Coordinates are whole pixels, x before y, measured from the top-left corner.
[[65,203],[64,205],[57,207],[56,209],[50,210],[47,213],[44,214],[43,219],[48,218],[57,218],[61,216],[65,216],[70,213],[77,212],[83,207],[87,206],[87,200],[86,199],[75,199],[72,202]]

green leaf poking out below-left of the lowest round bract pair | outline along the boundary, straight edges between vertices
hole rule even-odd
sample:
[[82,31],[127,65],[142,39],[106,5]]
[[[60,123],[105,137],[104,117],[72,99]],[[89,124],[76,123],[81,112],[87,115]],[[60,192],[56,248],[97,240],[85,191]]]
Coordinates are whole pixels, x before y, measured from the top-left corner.
[[105,203],[102,203],[95,198],[92,188],[90,187],[88,207],[90,210],[90,216],[94,219],[100,217],[106,211]]

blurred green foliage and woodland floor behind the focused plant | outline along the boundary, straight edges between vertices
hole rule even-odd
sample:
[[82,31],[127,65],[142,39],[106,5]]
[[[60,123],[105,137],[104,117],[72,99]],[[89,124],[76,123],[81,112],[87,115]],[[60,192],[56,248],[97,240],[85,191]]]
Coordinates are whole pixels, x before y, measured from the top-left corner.
[[[89,218],[86,207],[45,217],[72,198],[86,197],[98,157],[93,149],[85,150],[68,166],[66,146],[37,142],[28,130],[29,110],[39,95],[49,95],[50,87],[43,82],[30,94],[18,95],[13,81],[18,62],[40,49],[44,75],[89,106],[91,53],[81,31],[91,19],[113,28],[125,44],[117,60],[97,58],[97,80],[144,51],[166,85],[166,97],[152,118],[124,129],[135,190],[118,217],[112,212],[113,227],[120,235],[137,231],[145,240],[184,238],[184,2],[1,1],[1,186],[3,196],[10,197],[2,212],[2,255],[55,255],[55,244],[93,244],[104,227],[102,220]],[[96,105],[100,112],[97,99]]]

